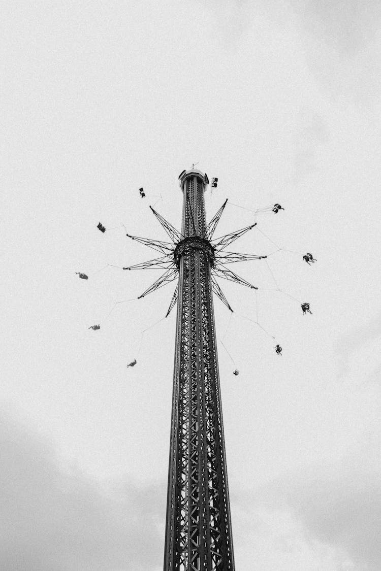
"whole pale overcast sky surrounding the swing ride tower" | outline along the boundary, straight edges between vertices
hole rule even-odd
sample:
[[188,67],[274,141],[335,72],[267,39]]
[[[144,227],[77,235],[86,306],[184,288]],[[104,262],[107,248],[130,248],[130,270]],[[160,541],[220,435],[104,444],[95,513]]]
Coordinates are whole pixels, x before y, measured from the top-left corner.
[[[231,266],[276,340],[243,317],[254,291],[220,283],[230,321],[215,300],[240,371],[218,343],[236,569],[380,569],[379,2],[2,2],[1,19],[0,566],[162,569],[175,311],[140,339],[174,284],[106,317],[159,273],[95,272],[156,257],[121,224],[166,239],[148,206],[179,227],[199,161],[219,178],[208,219],[279,202],[258,229],[300,252],[268,259],[298,301],[263,260]],[[253,220],[228,204],[216,236]],[[254,229],[231,250],[276,247]]]

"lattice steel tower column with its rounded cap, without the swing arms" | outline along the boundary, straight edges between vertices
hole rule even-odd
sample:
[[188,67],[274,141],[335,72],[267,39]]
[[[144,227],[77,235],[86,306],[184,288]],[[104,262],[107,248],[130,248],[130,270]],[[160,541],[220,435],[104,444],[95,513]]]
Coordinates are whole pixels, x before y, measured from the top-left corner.
[[234,571],[206,230],[207,176],[183,172],[164,571]]

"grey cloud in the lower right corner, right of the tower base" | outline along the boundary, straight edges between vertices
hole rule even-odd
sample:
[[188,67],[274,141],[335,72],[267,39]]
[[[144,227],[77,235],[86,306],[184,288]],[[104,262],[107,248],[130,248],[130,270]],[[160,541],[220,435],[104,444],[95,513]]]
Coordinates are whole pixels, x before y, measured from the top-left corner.
[[276,519],[271,533],[275,530],[278,546],[283,542],[281,552],[287,545],[288,549],[308,545],[308,557],[329,555],[331,561],[331,566],[301,564],[296,569],[381,569],[380,437],[368,433],[337,463],[278,478],[252,497],[258,519],[267,525]]

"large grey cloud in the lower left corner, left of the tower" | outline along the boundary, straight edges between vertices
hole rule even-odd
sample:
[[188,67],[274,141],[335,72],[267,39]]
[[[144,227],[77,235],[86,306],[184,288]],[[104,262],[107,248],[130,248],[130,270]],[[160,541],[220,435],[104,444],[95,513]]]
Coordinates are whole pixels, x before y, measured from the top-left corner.
[[60,467],[50,443],[7,417],[0,449],[1,569],[161,569],[165,485],[102,486]]

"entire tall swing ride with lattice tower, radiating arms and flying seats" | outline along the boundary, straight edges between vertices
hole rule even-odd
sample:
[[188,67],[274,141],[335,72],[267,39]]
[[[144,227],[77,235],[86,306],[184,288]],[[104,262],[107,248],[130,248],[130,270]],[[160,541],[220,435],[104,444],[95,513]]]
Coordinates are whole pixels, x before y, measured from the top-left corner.
[[[233,309],[220,288],[218,279],[254,289],[256,294],[257,286],[227,267],[236,262],[264,260],[275,283],[276,280],[268,266],[267,255],[241,254],[226,249],[256,227],[256,222],[214,238],[227,199],[206,224],[204,192],[209,182],[207,175],[195,170],[193,165],[191,170],[181,173],[179,180],[183,192],[181,231],[150,206],[170,241],[141,238],[127,233],[128,238],[145,244],[159,252],[160,256],[123,268],[127,271],[147,268],[164,270],[138,299],[177,280],[165,316],[177,305],[164,571],[234,571],[212,294],[231,313]],[[214,178],[214,189],[217,183],[218,179]],[[139,193],[145,198],[143,188],[139,189]],[[280,210],[284,209],[276,203],[254,212],[272,211],[278,214]],[[98,229],[102,234],[106,232],[101,222]],[[269,240],[273,242],[270,238]],[[277,251],[279,250],[283,248],[278,247]],[[316,262],[310,253],[303,255],[302,259],[308,266]],[[77,273],[79,278],[87,279],[83,272]],[[282,290],[278,288],[278,291]],[[114,307],[118,303],[124,302],[117,302]],[[303,315],[312,313],[308,302],[300,305]],[[258,308],[254,323],[266,332],[258,322]],[[99,328],[99,324],[90,327],[94,331]],[[148,329],[150,328],[145,331]],[[222,340],[221,343],[226,349]],[[276,355],[282,356],[279,344],[274,349]],[[231,356],[230,358],[232,360]],[[127,367],[136,364],[135,357]],[[237,368],[233,375],[239,375]]]

